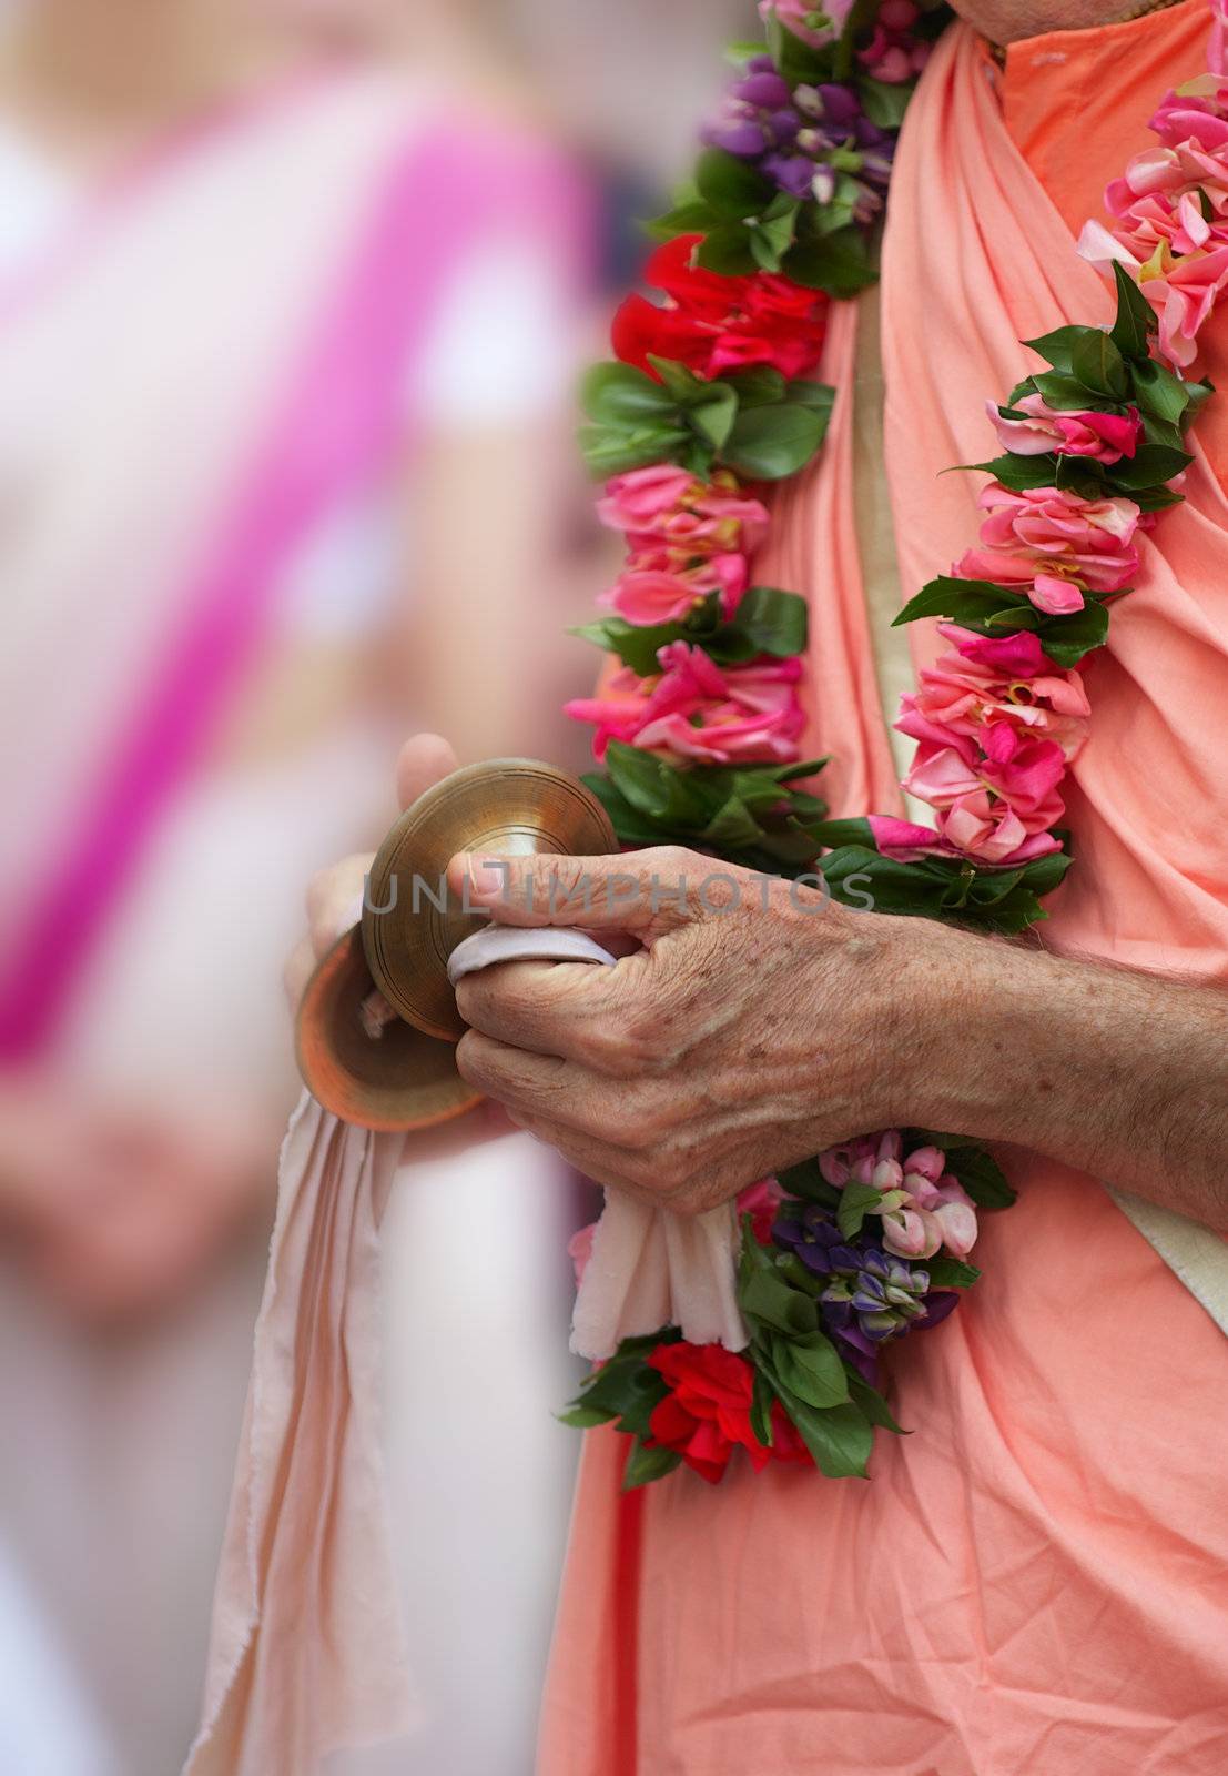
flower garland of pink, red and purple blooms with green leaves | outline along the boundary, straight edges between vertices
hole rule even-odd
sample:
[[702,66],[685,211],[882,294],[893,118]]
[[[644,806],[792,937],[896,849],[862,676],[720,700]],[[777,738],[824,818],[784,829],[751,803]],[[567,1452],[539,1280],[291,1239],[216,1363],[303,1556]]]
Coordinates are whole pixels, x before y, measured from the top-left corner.
[[[582,448],[607,480],[598,511],[628,561],[580,634],[619,668],[568,705],[596,725],[587,778],[626,845],[685,844],[754,870],[822,870],[838,900],[1012,934],[1045,916],[1070,865],[1063,776],[1090,703],[1079,662],[1139,567],[1136,536],[1177,504],[1184,432],[1212,392],[1184,371],[1228,282],[1228,78],[1169,92],[1159,146],[1106,192],[1113,227],[1079,250],[1111,268],[1111,329],[1026,341],[1049,366],[988,401],[1001,453],[976,467],[980,542],[896,622],[942,618],[949,643],[896,726],[905,780],[933,828],[827,821],[795,787],[806,602],[752,583],[770,515],[756,483],[818,451],[834,391],[813,380],[827,309],[875,277],[896,131],[944,7],[914,0],[761,0],[763,44],[705,130],[694,179],[651,224],[664,242],[614,318],[616,362],[587,377]],[[1175,373],[1177,371],[1177,373]],[[616,1423],[637,1487],[680,1463],[717,1481],[754,1469],[864,1474],[875,1428],[898,1431],[882,1359],[935,1327],[978,1270],[980,1208],[1013,1190],[978,1142],[887,1130],[832,1147],[738,1199],[744,1352],[674,1327],[625,1339],[564,1415]],[[573,1243],[584,1261],[589,1231]]]

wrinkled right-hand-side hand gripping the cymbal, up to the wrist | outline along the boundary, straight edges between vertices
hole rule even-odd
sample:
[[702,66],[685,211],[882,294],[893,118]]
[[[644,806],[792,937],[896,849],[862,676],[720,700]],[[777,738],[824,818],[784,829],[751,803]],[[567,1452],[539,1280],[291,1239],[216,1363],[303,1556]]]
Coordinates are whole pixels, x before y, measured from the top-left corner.
[[[630,932],[614,968],[461,980],[463,1076],[580,1170],[697,1213],[850,1135],[909,1121],[925,980],[953,936],[683,849],[465,854],[499,924]],[[942,954],[941,954],[942,952]]]

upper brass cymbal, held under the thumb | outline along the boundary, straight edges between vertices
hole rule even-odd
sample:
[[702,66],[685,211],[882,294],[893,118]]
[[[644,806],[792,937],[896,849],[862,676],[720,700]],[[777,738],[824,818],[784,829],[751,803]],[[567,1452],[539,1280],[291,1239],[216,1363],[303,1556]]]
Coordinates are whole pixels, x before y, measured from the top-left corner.
[[579,778],[532,758],[465,765],[396,822],[371,865],[362,947],[376,986],[408,1023],[453,1043],[465,1034],[447,957],[486,920],[447,886],[449,858],[607,856],[618,838]]

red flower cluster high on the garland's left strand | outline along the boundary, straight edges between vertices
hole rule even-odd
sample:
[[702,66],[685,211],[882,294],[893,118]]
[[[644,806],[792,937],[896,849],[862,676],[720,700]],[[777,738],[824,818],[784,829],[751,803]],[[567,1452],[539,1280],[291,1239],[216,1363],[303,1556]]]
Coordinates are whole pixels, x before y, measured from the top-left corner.
[[827,297],[774,272],[724,277],[692,266],[699,240],[680,234],[651,256],[644,281],[665,293],[665,305],[628,297],[610,330],[614,355],[649,377],[649,352],[699,377],[751,364],[772,364],[784,377],[813,371],[827,334]]

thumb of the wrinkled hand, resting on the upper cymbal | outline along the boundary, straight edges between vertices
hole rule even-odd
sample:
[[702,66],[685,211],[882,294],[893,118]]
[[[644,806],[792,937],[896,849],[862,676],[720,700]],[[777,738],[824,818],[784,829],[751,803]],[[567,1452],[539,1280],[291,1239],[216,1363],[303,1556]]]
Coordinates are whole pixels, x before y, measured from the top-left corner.
[[461,851],[447,865],[447,881],[500,925],[662,932],[701,915],[699,890],[710,868],[710,858],[673,845],[616,858]]

